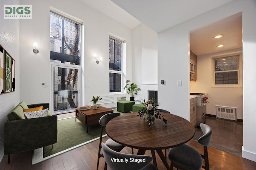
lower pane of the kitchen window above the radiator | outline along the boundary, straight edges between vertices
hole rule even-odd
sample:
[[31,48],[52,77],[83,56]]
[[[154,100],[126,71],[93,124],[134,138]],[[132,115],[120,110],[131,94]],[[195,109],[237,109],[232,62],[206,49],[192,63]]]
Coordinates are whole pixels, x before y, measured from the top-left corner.
[[238,71],[216,72],[215,84],[238,84]]

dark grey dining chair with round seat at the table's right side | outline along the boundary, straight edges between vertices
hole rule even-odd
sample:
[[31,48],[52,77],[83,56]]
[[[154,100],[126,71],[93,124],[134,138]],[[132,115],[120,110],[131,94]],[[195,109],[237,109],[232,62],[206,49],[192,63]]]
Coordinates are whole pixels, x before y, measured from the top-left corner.
[[[174,147],[170,149],[168,154],[171,161],[171,170],[173,167],[186,170],[200,170],[201,168],[209,170],[207,146],[210,144],[212,137],[212,128],[204,123],[200,123],[200,127],[204,135],[198,139],[198,143],[204,146],[204,154],[200,154],[196,149],[186,144]],[[202,164],[202,158],[204,159],[204,165]]]

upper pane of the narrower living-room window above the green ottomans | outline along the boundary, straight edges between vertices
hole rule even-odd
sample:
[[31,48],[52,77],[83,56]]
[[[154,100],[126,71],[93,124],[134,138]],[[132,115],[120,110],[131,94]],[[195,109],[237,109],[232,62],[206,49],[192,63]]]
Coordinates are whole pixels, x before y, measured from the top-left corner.
[[122,42],[109,38],[109,69],[122,71]]

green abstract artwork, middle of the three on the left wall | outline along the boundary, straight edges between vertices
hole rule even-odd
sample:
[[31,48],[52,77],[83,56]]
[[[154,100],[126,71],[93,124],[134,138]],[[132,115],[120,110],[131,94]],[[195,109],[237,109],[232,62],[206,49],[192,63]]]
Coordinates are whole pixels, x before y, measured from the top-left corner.
[[5,51],[5,92],[12,91],[12,57]]

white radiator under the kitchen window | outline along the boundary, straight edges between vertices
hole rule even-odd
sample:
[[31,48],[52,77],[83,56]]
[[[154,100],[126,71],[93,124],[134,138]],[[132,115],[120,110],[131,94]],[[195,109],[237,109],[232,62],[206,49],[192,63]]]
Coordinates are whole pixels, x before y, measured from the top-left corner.
[[216,106],[216,117],[236,121],[236,110],[236,107]]

